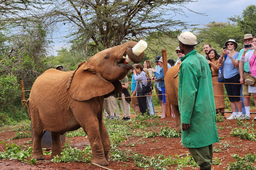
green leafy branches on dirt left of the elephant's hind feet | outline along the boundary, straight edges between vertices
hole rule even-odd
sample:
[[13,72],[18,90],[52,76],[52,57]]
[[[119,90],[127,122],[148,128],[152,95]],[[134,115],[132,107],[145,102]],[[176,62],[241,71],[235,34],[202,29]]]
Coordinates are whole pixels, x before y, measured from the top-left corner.
[[[6,145],[4,141],[0,143],[6,147],[4,152],[0,152],[0,159],[19,159],[22,162],[27,162],[26,159],[31,156],[32,147],[18,146],[14,143]],[[31,158],[29,163],[35,164],[36,160]]]

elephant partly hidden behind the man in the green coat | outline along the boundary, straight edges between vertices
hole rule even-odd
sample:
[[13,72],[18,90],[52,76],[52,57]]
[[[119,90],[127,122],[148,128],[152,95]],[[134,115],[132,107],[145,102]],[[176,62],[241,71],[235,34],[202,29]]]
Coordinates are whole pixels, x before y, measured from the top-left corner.
[[165,74],[164,82],[165,82],[165,92],[169,95],[169,101],[172,105],[173,112],[175,114],[176,131],[181,132],[180,127],[180,111],[179,111],[179,98],[178,98],[178,90],[179,90],[179,70],[180,70],[179,62],[176,66],[172,66]]

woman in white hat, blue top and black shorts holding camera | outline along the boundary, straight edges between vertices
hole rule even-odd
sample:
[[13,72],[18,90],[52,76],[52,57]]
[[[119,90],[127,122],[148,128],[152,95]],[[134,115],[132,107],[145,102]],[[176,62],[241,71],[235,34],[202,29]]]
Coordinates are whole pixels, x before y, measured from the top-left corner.
[[[237,43],[234,39],[229,39],[225,42],[222,54],[219,58],[219,63],[223,63],[223,75],[225,88],[228,93],[231,109],[233,113],[227,118],[227,120],[239,119],[243,117],[242,102],[240,97],[241,83],[238,70],[238,56],[239,53],[235,51]],[[238,109],[238,113],[236,112]]]

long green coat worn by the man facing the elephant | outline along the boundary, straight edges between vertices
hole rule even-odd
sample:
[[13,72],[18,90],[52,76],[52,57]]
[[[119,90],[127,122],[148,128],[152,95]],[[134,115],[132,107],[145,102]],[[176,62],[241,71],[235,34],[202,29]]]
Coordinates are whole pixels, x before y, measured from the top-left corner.
[[181,58],[179,109],[181,123],[190,128],[181,132],[182,145],[201,148],[219,142],[209,64],[196,50]]

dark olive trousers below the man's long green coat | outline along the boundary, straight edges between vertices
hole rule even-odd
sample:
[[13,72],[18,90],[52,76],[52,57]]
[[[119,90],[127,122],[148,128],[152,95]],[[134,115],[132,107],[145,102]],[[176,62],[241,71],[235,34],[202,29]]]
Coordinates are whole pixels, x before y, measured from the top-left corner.
[[191,156],[201,168],[212,166],[213,150],[212,145],[202,148],[188,148]]

